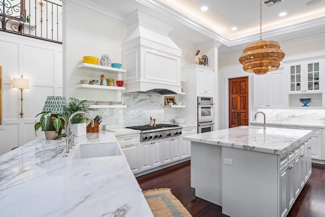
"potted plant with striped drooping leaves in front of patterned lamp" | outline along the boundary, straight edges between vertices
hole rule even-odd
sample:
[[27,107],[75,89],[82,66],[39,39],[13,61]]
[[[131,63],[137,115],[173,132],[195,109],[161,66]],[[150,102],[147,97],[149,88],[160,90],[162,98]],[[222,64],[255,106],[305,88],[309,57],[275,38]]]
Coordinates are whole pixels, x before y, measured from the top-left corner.
[[38,129],[42,129],[45,133],[46,140],[56,139],[66,136],[65,134],[58,136],[60,129],[64,129],[64,122],[68,122],[68,119],[64,115],[57,114],[51,115],[51,111],[42,111],[37,116],[42,115],[39,122],[35,123],[35,135]]

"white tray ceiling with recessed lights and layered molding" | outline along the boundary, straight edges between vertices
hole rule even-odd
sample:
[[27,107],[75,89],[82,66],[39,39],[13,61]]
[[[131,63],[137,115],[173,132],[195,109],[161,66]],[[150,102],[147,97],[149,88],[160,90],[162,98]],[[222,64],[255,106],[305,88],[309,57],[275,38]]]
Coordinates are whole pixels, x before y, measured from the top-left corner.
[[[89,0],[94,7],[126,16],[138,9],[162,19],[176,28],[171,36],[194,46],[219,41],[221,52],[259,40],[258,0]],[[266,7],[262,1],[262,38],[287,40],[325,33],[325,0],[282,0]],[[200,8],[209,9],[202,12]],[[279,13],[287,15],[279,17]],[[124,17],[124,18],[123,18]],[[238,29],[233,31],[232,27]],[[226,46],[225,46],[226,45]],[[236,49],[236,48],[233,48]]]

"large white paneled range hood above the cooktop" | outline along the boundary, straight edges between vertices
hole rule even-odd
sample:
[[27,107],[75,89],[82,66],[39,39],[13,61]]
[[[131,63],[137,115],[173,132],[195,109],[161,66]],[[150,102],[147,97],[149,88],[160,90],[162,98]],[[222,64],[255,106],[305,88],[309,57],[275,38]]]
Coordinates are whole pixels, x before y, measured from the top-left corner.
[[122,43],[124,92],[180,94],[182,50],[168,36],[174,27],[138,10],[128,23]]

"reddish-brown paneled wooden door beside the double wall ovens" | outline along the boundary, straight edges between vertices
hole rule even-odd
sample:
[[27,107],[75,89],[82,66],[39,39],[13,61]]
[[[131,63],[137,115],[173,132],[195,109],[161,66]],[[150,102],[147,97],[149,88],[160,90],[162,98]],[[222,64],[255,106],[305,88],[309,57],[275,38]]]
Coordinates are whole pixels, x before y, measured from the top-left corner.
[[248,126],[248,77],[229,79],[229,128]]

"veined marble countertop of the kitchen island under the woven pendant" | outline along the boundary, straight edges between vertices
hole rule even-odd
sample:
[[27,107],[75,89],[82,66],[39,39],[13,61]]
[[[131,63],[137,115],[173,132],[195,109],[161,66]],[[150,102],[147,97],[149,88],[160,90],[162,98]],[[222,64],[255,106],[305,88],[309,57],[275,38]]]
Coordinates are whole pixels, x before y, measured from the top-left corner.
[[282,154],[310,136],[312,131],[241,126],[184,136],[184,140],[252,151]]

